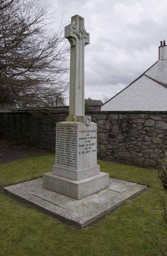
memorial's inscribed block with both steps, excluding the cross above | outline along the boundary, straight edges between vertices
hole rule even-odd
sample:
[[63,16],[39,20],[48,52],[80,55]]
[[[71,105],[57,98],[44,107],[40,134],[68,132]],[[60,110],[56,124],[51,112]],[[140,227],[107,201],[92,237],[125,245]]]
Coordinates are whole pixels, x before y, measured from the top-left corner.
[[[87,120],[87,119],[86,119]],[[109,185],[109,174],[97,165],[97,125],[61,122],[56,129],[56,164],[43,176],[43,187],[80,199]]]

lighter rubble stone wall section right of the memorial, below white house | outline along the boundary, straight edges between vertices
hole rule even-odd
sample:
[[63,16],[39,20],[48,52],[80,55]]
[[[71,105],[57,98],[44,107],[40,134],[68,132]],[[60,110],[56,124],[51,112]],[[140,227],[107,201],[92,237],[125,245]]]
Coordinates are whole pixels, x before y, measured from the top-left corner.
[[98,125],[98,158],[156,168],[167,148],[167,112],[103,112]]

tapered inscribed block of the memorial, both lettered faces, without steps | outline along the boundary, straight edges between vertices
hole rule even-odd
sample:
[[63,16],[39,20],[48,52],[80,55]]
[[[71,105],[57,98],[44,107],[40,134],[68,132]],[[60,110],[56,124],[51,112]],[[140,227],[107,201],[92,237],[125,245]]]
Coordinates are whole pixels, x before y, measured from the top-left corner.
[[56,165],[80,170],[97,165],[97,126],[59,123],[56,134]]

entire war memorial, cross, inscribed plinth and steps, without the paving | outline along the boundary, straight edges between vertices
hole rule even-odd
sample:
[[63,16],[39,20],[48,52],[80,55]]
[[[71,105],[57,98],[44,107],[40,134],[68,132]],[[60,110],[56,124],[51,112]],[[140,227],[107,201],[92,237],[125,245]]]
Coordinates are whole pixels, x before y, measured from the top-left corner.
[[75,15],[65,27],[71,44],[70,105],[66,122],[57,123],[56,163],[43,176],[43,187],[81,199],[109,186],[109,174],[97,165],[97,125],[85,116],[84,48],[89,33],[84,18]]

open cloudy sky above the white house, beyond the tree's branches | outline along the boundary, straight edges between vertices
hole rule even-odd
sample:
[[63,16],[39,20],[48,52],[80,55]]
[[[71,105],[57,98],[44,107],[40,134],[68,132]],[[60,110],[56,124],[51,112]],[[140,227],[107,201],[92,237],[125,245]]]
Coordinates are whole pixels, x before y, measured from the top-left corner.
[[[112,97],[158,59],[167,39],[166,0],[38,0],[52,3],[55,29],[62,15],[85,18],[90,44],[85,47],[85,98]],[[70,44],[69,44],[70,45]]]

